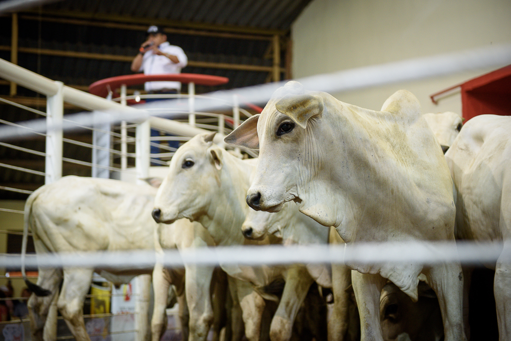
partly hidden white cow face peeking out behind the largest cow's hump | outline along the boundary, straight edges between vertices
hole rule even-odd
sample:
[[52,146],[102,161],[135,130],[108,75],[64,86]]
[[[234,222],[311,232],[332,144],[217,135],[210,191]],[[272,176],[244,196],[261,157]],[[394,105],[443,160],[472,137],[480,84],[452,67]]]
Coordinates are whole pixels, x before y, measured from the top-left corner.
[[444,153],[458,136],[463,126],[463,117],[452,111],[432,113],[423,115],[426,118],[428,126],[435,134],[436,140],[442,147]]

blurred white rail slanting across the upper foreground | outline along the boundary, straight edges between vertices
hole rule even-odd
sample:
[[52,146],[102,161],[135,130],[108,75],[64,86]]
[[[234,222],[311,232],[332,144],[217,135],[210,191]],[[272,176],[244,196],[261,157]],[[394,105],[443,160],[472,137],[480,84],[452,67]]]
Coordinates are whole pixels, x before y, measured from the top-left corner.
[[[303,84],[307,90],[334,93],[396,82],[445,76],[455,74],[456,72],[481,68],[502,67],[508,65],[509,60],[511,60],[511,44],[508,43],[438,56],[414,58],[380,65],[353,68],[333,72],[331,74],[306,77],[298,79],[297,81]],[[271,94],[285,83],[286,81],[211,92],[196,99],[195,110],[212,111],[230,109],[227,103],[230,103],[234,94],[241,96],[244,102],[265,103],[268,101]],[[85,126],[90,126],[92,123],[118,124],[121,120],[129,122],[144,121],[148,118],[147,110],[161,108],[161,106],[165,106],[169,111],[178,110],[180,107],[178,103],[180,103],[179,99],[173,99],[138,105],[136,108],[146,109],[141,110],[140,113],[130,110],[129,113],[110,112],[112,115],[103,113],[95,116],[87,112],[85,114],[67,115],[66,118],[72,117],[77,123]],[[129,108],[132,109],[133,107]],[[157,115],[158,114],[154,114],[154,116]],[[164,114],[161,115],[165,116]],[[32,129],[39,132],[44,132],[46,130],[45,121],[39,121],[33,124],[27,123],[26,126],[30,126]],[[58,129],[60,127],[56,128]],[[76,129],[66,124],[64,124],[62,128],[64,130]],[[13,127],[0,127],[0,136],[2,136],[2,138],[20,138],[26,134],[26,132]]]

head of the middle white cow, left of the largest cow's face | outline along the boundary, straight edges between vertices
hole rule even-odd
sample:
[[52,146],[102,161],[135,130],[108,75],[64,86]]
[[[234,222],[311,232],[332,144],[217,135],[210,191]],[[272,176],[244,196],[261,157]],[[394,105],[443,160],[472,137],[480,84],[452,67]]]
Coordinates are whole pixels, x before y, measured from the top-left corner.
[[197,220],[218,191],[225,150],[213,144],[215,133],[201,134],[177,149],[169,174],[161,183],[154,202],[153,218],[172,224],[180,218]]

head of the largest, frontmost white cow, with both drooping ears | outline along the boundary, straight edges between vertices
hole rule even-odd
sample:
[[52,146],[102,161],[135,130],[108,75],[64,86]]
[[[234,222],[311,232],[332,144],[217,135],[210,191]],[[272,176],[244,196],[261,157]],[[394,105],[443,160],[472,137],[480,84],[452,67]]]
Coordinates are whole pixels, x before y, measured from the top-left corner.
[[[322,112],[321,96],[305,91],[297,82],[288,82],[275,91],[260,115],[250,117],[225,138],[227,143],[260,149],[258,172],[252,184],[264,185],[250,187],[247,195],[250,207],[278,212],[284,202],[301,201],[296,184],[313,176],[298,172],[305,169],[301,165],[306,159],[310,161],[308,153],[314,148],[310,144],[314,140],[310,134],[314,131],[306,128],[314,125]],[[320,133],[319,130],[315,132]],[[266,157],[261,158],[261,155]]]

